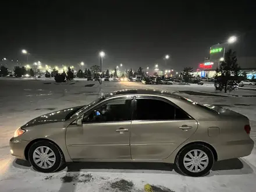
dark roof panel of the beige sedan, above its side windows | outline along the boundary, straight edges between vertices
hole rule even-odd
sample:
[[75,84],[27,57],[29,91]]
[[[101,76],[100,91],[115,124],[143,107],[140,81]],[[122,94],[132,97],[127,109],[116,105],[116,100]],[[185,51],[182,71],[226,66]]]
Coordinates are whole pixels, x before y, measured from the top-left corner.
[[152,89],[131,89],[131,90],[119,90],[113,91],[111,93],[104,94],[105,98],[115,97],[120,95],[131,95],[131,94],[138,94],[138,95],[163,95],[175,98],[182,98],[179,95],[175,94],[176,92],[168,92],[162,90],[152,90]]

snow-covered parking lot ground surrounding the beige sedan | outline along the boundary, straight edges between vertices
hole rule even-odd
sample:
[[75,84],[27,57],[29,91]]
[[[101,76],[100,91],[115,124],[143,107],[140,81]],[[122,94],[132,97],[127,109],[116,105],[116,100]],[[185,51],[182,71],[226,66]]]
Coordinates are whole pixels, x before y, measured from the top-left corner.
[[[94,86],[85,87],[88,84]],[[194,101],[222,105],[240,112],[250,119],[251,138],[256,143],[256,92],[253,90],[222,94],[207,84],[146,86],[138,82],[104,82],[100,86],[94,81],[75,80],[74,84],[55,84],[53,80],[2,78],[0,88],[1,192],[144,191],[146,184],[154,185],[155,191],[162,189],[175,192],[256,189],[255,147],[248,157],[217,162],[208,176],[200,178],[179,175],[172,165],[162,163],[70,163],[58,173],[39,173],[28,162],[15,159],[9,154],[9,139],[13,132],[31,118],[69,106],[86,105],[101,93],[129,88],[181,91],[180,95]]]

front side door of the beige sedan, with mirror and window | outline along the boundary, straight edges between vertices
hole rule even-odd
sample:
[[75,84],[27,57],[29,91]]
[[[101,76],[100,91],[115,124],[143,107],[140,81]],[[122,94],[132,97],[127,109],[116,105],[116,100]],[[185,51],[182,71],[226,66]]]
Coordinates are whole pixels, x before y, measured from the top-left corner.
[[73,160],[131,159],[133,97],[105,101],[83,115],[83,125],[67,127],[66,146]]

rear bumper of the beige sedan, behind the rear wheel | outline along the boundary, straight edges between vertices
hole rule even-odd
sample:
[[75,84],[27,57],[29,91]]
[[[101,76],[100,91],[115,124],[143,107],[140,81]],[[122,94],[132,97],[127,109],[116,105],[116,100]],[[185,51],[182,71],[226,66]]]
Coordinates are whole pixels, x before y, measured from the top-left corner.
[[251,154],[254,148],[254,141],[240,140],[240,141],[228,141],[215,146],[218,154],[218,161],[239,157],[246,157]]

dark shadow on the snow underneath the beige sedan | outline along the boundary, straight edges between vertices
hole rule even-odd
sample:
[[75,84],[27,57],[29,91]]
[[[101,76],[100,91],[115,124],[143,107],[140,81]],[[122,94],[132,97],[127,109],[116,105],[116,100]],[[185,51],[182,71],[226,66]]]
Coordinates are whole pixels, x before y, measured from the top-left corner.
[[[13,166],[20,169],[31,169],[29,161],[15,159]],[[154,162],[74,162],[66,163],[57,172],[67,168],[68,172],[115,172],[115,173],[170,173],[182,174],[175,165]],[[86,170],[87,169],[87,170]],[[174,171],[175,170],[175,171]],[[177,172],[177,173],[176,173]],[[253,169],[241,158],[227,159],[215,162],[208,176],[212,175],[244,175],[253,173]]]

